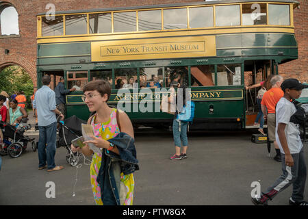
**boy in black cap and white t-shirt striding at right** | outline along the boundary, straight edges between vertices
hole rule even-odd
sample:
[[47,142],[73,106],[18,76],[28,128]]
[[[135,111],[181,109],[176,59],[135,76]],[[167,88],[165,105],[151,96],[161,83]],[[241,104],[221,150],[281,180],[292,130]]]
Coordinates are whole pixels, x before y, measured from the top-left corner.
[[[306,183],[306,164],[303,152],[303,143],[300,140],[299,124],[292,123],[292,115],[296,107],[291,99],[298,99],[307,86],[298,82],[297,79],[286,79],[281,84],[284,96],[276,106],[276,140],[281,151],[281,163],[283,174],[279,177],[261,197],[252,198],[255,205],[268,205],[279,192],[293,184],[293,192],[290,205],[308,205],[304,201],[304,190]],[[292,119],[292,121],[294,121]]]

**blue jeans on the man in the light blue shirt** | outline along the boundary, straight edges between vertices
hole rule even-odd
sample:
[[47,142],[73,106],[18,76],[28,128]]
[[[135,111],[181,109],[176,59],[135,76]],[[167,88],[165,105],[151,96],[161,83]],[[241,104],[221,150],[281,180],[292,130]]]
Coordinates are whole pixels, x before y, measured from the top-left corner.
[[49,169],[55,168],[55,142],[57,135],[57,123],[47,126],[39,126],[38,138],[38,167],[48,165]]

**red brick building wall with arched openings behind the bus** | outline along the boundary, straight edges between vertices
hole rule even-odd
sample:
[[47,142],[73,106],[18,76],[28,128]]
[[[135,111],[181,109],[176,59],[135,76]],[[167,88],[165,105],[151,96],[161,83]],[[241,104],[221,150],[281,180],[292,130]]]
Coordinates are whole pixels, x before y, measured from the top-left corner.
[[[300,81],[308,79],[308,2],[298,0],[300,9],[294,10],[294,25],[298,41],[298,60],[282,64],[279,72],[285,77],[296,77]],[[53,3],[56,11],[86,10],[95,8],[131,7],[137,5],[156,5],[168,3],[189,3],[196,0],[8,0],[0,2],[0,13],[3,9],[14,6],[18,13],[19,35],[0,36],[0,70],[6,66],[18,65],[29,73],[36,87],[36,15],[47,12],[46,5]],[[9,53],[5,54],[7,49]]]

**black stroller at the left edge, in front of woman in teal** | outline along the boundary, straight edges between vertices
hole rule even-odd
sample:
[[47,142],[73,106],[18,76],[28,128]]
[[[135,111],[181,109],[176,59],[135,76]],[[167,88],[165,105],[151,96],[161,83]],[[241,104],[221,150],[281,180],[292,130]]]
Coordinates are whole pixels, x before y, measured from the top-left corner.
[[26,124],[27,118],[23,118],[21,123],[17,127],[0,121],[0,129],[3,133],[3,149],[0,151],[0,155],[10,155],[10,157],[16,158],[21,156],[23,151],[27,149],[28,142],[31,142],[32,148],[36,145],[35,138],[29,138],[24,136],[23,133],[28,129],[31,129],[31,125]]

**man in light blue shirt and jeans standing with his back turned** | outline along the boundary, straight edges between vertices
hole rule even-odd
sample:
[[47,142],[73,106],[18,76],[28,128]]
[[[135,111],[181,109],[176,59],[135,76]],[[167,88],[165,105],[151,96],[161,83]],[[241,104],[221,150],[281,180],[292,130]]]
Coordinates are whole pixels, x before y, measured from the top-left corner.
[[57,119],[55,114],[64,115],[57,110],[55,105],[55,92],[50,88],[51,77],[44,75],[42,77],[42,88],[36,91],[33,107],[38,114],[38,169],[47,168],[48,172],[62,170],[63,166],[55,166],[55,142],[57,135]]

